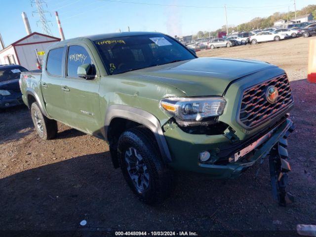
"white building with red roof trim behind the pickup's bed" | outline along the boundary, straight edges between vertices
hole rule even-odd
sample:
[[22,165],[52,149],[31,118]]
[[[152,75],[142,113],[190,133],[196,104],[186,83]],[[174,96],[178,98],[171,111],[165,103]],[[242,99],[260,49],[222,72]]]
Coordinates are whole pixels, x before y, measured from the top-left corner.
[[38,59],[41,64],[43,58],[36,52],[45,51],[58,41],[60,38],[34,32],[0,50],[0,64],[19,64],[28,70],[36,70]]

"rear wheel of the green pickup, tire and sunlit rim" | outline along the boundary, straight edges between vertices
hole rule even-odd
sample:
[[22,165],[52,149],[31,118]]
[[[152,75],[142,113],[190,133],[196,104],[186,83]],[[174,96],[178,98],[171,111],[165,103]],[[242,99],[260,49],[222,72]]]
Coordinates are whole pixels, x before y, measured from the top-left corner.
[[[56,120],[45,117],[41,111],[37,102],[31,105],[31,116],[36,131],[43,140],[53,139],[57,135],[57,122]],[[39,125],[39,123],[41,125]],[[40,128],[41,127],[41,128]]]

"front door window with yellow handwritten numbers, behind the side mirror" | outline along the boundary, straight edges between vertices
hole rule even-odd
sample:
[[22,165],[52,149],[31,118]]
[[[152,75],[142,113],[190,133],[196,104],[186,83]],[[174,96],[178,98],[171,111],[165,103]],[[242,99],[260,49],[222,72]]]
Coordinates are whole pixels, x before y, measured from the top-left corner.
[[78,78],[78,67],[89,63],[92,64],[92,61],[84,47],[79,45],[71,45],[68,47],[67,77]]

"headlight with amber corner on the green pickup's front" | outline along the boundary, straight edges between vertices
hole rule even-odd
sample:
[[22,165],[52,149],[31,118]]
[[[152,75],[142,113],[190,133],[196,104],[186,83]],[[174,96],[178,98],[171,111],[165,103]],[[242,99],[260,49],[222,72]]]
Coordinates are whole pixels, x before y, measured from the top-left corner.
[[226,100],[223,97],[171,97],[160,101],[163,109],[174,117],[187,121],[200,121],[203,118],[223,114]]

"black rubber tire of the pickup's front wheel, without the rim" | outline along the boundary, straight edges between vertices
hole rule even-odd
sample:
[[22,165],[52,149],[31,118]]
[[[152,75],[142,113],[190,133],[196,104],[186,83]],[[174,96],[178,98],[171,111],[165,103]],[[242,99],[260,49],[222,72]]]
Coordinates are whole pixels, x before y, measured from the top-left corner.
[[[136,187],[127,169],[125,156],[130,148],[137,150],[147,166],[149,185],[146,190]],[[127,184],[141,201],[147,204],[160,203],[170,195],[173,171],[162,161],[155,136],[145,126],[137,126],[121,134],[118,139],[118,162]]]

